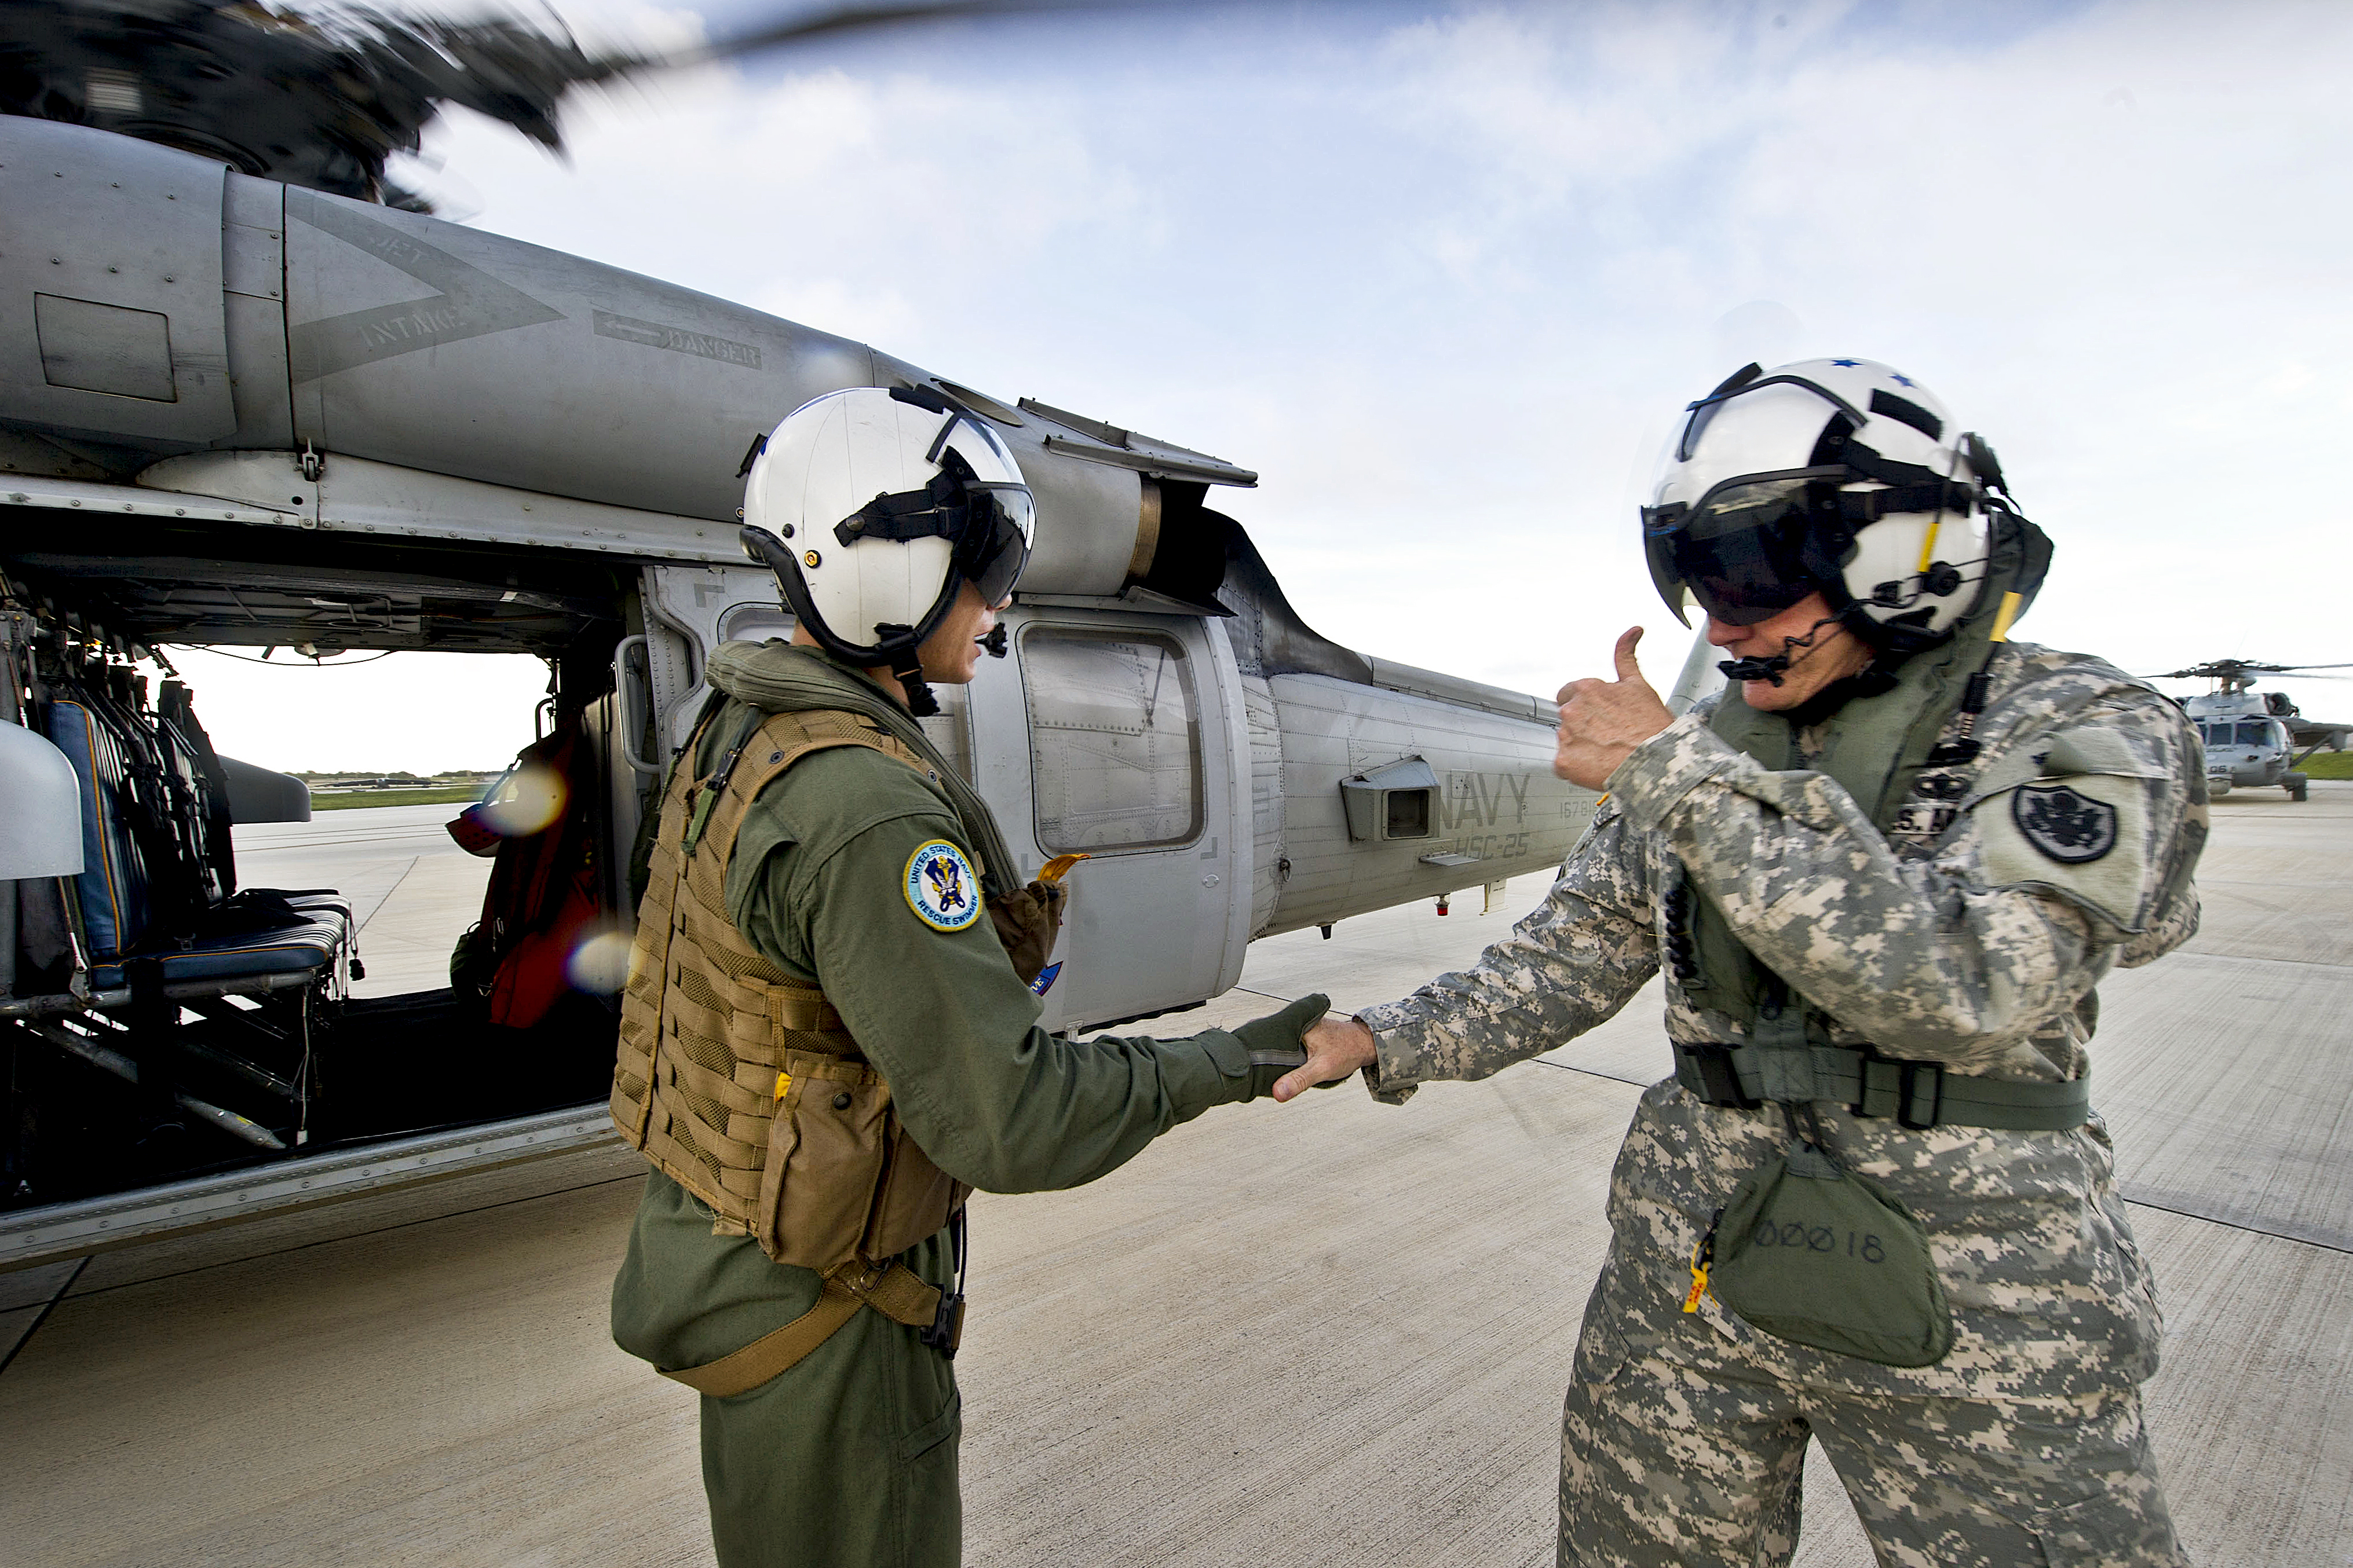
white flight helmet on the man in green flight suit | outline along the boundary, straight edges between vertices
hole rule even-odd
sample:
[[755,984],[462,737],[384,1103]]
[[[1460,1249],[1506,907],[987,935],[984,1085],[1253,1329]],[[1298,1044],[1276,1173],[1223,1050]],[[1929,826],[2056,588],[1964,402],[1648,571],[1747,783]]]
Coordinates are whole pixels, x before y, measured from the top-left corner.
[[1000,604],[1033,538],[1012,449],[932,388],[812,397],[760,444],[744,489],[744,552],[776,571],[826,651],[889,665],[918,715],[939,708],[915,649],[965,581]]

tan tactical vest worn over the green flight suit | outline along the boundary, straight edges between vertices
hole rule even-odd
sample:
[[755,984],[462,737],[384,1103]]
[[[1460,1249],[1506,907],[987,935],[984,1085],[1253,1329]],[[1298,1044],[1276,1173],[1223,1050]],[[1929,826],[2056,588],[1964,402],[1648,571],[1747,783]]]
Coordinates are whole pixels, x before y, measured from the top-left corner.
[[621,994],[612,1119],[699,1197],[718,1234],[821,1274],[882,1262],[948,1222],[965,1187],[915,1147],[840,1013],[727,919],[727,860],[760,790],[809,752],[922,762],[852,712],[776,712],[711,776],[694,748],[661,802]]

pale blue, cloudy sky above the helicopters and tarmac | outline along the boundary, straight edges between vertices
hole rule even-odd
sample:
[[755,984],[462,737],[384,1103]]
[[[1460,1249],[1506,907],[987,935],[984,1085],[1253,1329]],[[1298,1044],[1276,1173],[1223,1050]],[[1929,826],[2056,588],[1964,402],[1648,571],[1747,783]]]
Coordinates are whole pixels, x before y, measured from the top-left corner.
[[[558,9],[640,45],[753,14]],[[1367,654],[1551,693],[1640,623],[1664,686],[1689,632],[1635,508],[1668,430],[1751,357],[1859,355],[2054,538],[2021,639],[2337,663],[2348,75],[2353,7],[2261,0],[1132,7],[652,78],[579,99],[565,160],[452,113],[402,179],[1254,468],[1214,503]],[[271,766],[529,741],[536,665],[468,661],[452,705],[431,658],[209,656],[198,691]],[[348,682],[344,717],[264,724],[289,679]]]

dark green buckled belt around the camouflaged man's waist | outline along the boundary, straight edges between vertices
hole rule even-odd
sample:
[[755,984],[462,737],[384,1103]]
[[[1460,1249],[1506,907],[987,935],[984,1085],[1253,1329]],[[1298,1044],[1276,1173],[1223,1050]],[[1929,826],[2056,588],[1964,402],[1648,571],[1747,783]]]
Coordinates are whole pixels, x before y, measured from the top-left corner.
[[2092,1114],[2092,1081],[2026,1084],[1946,1072],[1857,1046],[1751,1046],[1675,1041],[1675,1081],[1708,1105],[1755,1110],[1765,1100],[1831,1100],[1899,1126],[1991,1126],[2061,1133]]

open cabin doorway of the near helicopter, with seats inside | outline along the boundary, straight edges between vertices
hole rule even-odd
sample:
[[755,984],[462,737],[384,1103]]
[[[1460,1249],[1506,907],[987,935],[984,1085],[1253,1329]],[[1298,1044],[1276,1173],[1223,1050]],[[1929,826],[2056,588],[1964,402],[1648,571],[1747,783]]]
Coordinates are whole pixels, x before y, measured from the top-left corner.
[[[0,719],[68,755],[87,827],[82,872],[5,889],[47,898],[61,940],[12,943],[0,985],[0,1213],[600,1103],[642,802],[614,762],[635,571],[108,543],[0,557]],[[445,823],[534,736],[567,738],[562,788],[494,790],[508,809],[468,853]],[[254,799],[278,804],[231,804]],[[534,971],[553,990],[515,1006],[489,994],[508,969],[478,966],[464,992],[452,957],[532,846],[558,870],[511,907],[579,917]]]

